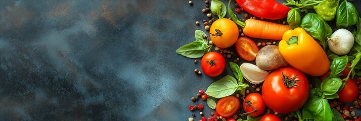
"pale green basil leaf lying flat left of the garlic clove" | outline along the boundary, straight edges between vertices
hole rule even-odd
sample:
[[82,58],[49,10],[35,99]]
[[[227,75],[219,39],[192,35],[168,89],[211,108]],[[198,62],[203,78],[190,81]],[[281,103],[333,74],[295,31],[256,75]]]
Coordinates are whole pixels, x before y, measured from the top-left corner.
[[242,85],[237,84],[237,80],[232,76],[225,76],[213,82],[206,90],[206,94],[215,98],[222,98],[232,95]]

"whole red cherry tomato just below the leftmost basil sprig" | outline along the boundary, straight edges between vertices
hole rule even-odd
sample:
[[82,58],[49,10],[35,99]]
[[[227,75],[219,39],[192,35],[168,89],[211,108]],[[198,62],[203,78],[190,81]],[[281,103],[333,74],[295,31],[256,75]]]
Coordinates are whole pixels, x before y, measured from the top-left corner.
[[223,73],[225,59],[218,52],[208,52],[202,57],[201,68],[204,74],[215,77]]

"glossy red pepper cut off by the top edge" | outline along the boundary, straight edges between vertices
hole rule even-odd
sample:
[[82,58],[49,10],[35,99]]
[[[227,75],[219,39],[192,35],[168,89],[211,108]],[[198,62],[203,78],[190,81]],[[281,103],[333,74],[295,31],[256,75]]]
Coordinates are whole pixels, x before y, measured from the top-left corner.
[[276,20],[287,17],[290,8],[275,0],[236,0],[248,13],[265,19]]

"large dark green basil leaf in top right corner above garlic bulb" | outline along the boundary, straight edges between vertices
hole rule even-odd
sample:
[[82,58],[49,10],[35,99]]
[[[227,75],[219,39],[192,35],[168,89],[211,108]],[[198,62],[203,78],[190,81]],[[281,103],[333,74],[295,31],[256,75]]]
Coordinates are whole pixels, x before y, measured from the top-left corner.
[[343,1],[336,14],[336,27],[346,28],[355,25],[358,21],[358,12],[353,4]]

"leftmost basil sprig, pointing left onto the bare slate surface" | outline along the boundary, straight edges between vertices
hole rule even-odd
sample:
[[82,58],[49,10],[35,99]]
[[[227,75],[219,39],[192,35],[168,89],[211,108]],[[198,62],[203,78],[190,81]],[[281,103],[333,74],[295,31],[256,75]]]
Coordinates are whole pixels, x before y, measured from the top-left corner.
[[206,33],[196,30],[195,37],[195,41],[178,48],[175,52],[189,58],[198,58],[210,52],[212,45],[208,45],[208,40],[205,39]]

